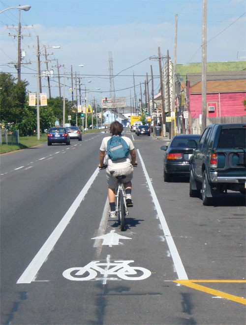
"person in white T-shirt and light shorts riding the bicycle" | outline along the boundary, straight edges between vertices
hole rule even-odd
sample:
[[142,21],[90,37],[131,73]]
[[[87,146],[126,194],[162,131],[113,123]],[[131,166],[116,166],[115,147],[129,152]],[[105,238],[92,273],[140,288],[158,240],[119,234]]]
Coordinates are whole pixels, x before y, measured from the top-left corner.
[[[112,136],[119,136],[121,137],[123,131],[123,125],[118,122],[114,121],[110,124],[110,133]],[[126,158],[123,158],[119,161],[112,161],[109,159],[107,155],[107,143],[110,137],[105,137],[102,140],[100,146],[100,154],[99,154],[99,168],[103,168],[106,165],[106,174],[107,174],[107,183],[108,183],[108,200],[110,205],[110,213],[109,216],[111,218],[115,218],[115,188],[118,185],[118,180],[116,176],[125,175],[126,177],[122,180],[125,188],[125,201],[127,207],[133,207],[132,198],[131,198],[131,179],[133,177],[133,167],[132,165],[137,165],[136,162],[136,151],[134,149],[134,145],[131,139],[127,137],[122,137],[125,142],[129,145],[129,155]],[[130,159],[131,158],[131,159]]]

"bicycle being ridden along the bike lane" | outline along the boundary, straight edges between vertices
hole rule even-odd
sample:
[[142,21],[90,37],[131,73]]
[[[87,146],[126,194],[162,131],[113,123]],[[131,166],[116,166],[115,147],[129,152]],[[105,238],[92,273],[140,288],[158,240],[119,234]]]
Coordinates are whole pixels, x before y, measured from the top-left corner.
[[[137,167],[136,165],[132,165],[133,167]],[[101,169],[107,168],[107,165],[104,165]],[[125,216],[128,216],[128,209],[125,201],[125,189],[122,180],[126,178],[125,175],[120,175],[116,177],[118,180],[118,187],[115,191],[115,214],[118,216],[118,223],[121,228],[121,231],[124,231],[124,225],[125,225]]]

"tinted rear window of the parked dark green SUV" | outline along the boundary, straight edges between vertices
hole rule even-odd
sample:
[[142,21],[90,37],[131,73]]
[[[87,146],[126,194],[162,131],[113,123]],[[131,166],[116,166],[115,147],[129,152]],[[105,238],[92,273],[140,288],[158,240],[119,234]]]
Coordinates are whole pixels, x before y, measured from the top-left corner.
[[246,129],[222,129],[219,135],[218,148],[245,148]]

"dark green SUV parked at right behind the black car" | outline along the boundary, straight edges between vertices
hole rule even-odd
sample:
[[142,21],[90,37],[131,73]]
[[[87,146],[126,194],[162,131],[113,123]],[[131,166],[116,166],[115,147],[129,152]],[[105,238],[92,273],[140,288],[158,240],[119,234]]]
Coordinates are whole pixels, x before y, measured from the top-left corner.
[[213,205],[215,198],[228,189],[246,194],[243,123],[208,125],[190,158],[190,197],[200,197],[202,190],[203,205]]

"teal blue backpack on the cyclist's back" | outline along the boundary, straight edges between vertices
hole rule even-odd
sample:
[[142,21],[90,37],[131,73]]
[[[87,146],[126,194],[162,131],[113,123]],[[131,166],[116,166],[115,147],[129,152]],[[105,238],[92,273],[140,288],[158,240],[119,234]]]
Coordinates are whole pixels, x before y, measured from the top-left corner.
[[107,154],[112,161],[126,158],[129,154],[129,145],[119,136],[112,136],[107,143]]

